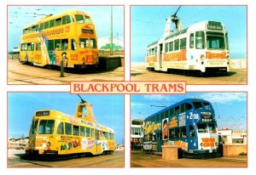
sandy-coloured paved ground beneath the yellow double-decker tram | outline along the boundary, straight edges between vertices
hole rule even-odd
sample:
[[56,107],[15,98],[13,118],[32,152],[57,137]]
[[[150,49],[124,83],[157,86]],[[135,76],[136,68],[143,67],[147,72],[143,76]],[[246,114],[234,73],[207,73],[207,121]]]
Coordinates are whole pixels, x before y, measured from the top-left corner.
[[124,67],[104,72],[65,72],[32,65],[21,65],[17,59],[8,60],[8,84],[69,84],[71,81],[123,81]]

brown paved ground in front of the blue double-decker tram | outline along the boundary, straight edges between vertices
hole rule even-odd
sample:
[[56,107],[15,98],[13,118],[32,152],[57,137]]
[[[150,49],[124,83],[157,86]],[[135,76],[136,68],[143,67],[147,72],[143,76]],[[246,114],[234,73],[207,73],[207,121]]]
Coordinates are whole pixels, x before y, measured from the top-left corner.
[[142,150],[132,150],[131,167],[247,167],[247,156],[166,161],[162,160],[161,155],[148,155]]

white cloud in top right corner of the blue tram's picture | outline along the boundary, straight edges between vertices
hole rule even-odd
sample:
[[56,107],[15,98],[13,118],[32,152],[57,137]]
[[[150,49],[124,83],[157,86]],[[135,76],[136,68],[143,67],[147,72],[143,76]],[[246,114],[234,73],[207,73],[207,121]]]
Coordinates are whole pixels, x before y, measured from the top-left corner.
[[247,93],[203,93],[201,98],[211,103],[226,104],[230,102],[246,101]]

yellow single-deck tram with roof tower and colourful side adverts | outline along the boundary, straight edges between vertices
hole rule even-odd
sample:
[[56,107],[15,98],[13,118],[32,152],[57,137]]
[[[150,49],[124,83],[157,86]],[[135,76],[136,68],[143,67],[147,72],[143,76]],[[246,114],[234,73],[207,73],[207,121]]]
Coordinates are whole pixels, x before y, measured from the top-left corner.
[[75,116],[56,110],[38,110],[32,118],[28,157],[61,157],[112,154],[114,131],[98,124],[91,104],[82,99]]

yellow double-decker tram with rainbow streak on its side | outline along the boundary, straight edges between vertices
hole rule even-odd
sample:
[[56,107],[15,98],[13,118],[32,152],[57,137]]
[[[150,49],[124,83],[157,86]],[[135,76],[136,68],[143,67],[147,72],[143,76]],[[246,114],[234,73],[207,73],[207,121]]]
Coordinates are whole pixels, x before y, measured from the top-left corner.
[[96,28],[89,14],[68,10],[46,15],[23,28],[20,62],[37,66],[68,68],[98,65]]

